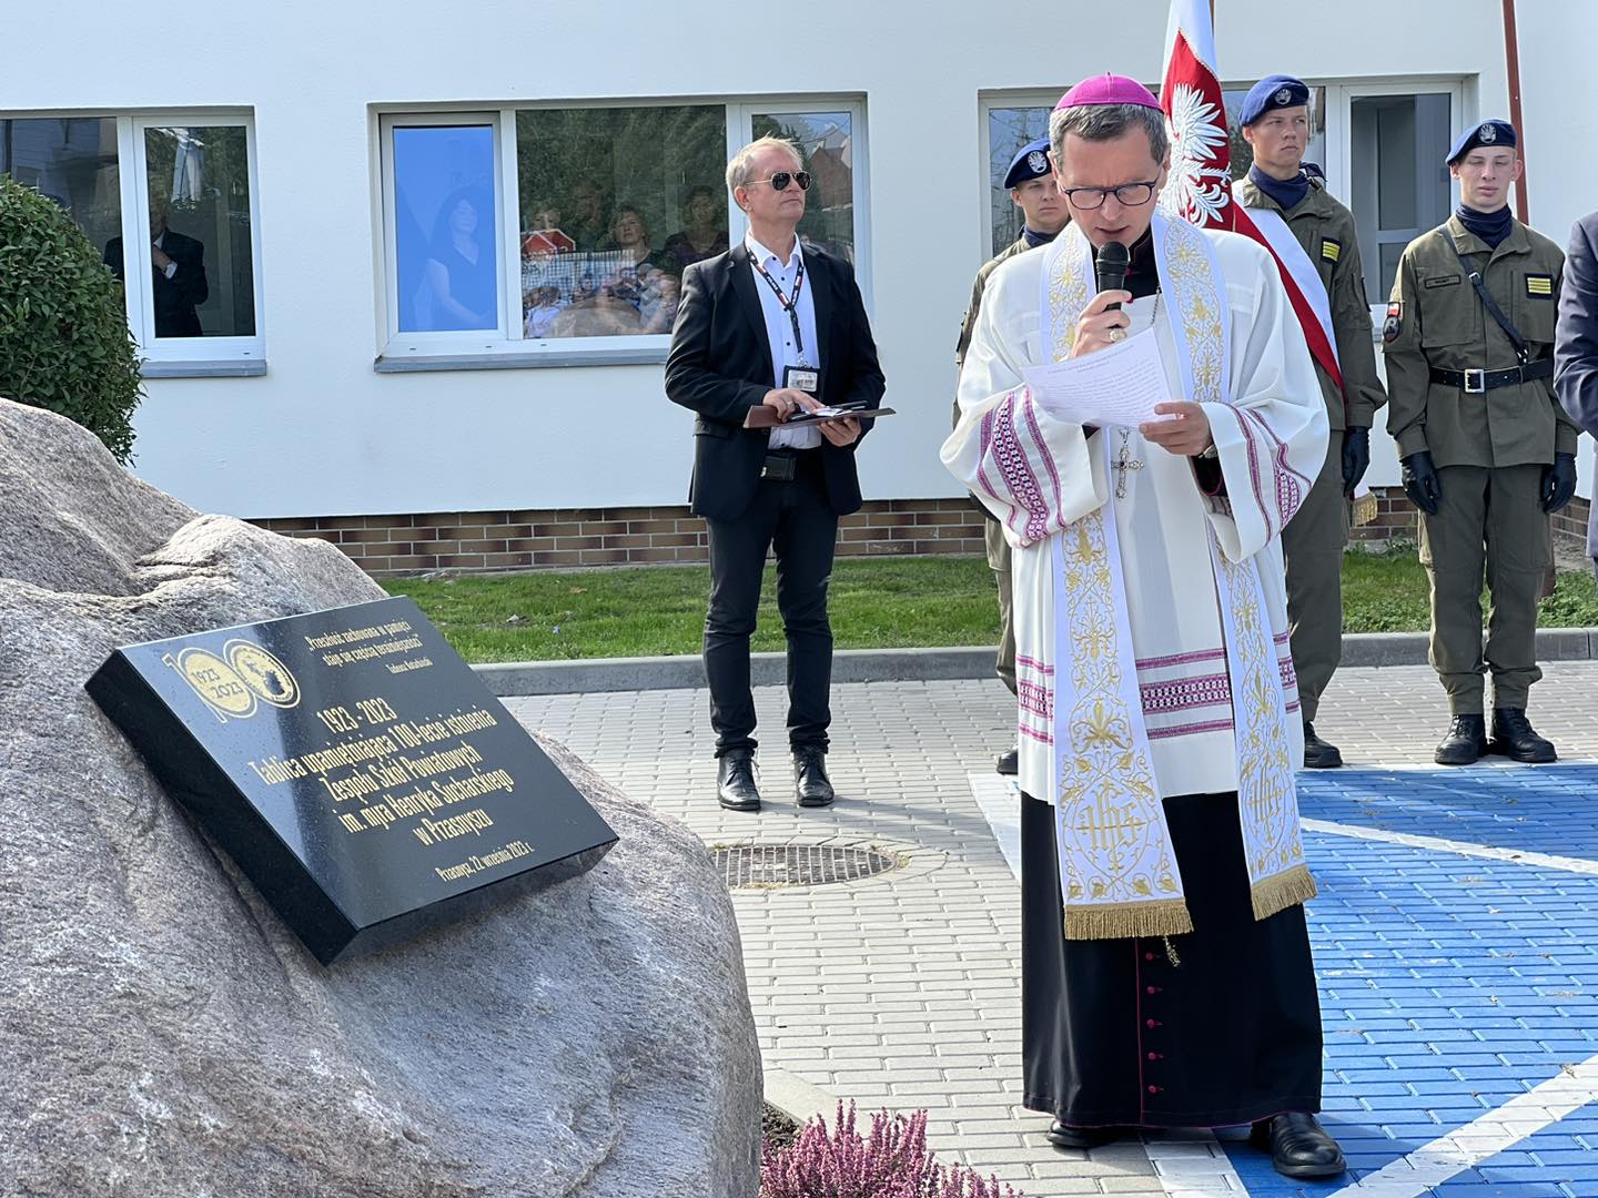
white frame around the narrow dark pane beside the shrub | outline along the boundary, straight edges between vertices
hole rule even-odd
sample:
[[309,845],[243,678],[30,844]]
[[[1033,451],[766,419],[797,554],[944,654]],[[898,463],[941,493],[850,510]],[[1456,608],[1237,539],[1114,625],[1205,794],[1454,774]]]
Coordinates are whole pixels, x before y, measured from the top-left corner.
[[[128,236],[128,228],[150,227],[150,195],[147,187],[149,153],[145,129],[217,128],[244,129],[244,165],[249,171],[249,254],[251,288],[254,291],[256,332],[249,337],[157,337],[155,308],[147,280],[150,278],[150,241]],[[260,168],[256,158],[256,121],[252,113],[179,110],[163,113],[129,113],[117,118],[117,158],[123,211],[123,276],[128,302],[128,327],[145,356],[145,377],[182,377],[190,374],[260,374],[265,371],[265,297],[260,268]],[[133,216],[133,222],[126,219]],[[217,262],[211,259],[211,265]],[[254,369],[257,367],[259,369]],[[153,367],[153,369],[152,369]]]

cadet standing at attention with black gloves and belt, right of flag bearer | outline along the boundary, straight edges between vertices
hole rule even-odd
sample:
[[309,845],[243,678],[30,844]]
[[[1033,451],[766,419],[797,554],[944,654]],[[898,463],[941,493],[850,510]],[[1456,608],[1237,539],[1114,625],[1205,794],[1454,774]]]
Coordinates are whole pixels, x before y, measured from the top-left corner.
[[[1453,716],[1437,762],[1467,765],[1483,752],[1552,762],[1553,746],[1526,719],[1526,696],[1542,677],[1544,513],[1576,494],[1579,430],[1553,398],[1564,256],[1510,216],[1509,188],[1521,161],[1509,121],[1467,129],[1448,152],[1448,169],[1461,204],[1405,249],[1382,326],[1387,430],[1398,441],[1405,492],[1422,513],[1432,666]],[[1485,650],[1483,564],[1493,593]]]

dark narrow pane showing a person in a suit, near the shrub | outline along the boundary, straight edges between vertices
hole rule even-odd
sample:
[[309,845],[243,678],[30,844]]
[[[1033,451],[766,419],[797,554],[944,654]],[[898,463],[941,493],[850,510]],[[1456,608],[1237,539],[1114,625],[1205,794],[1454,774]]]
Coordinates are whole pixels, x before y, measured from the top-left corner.
[[[157,337],[254,337],[256,264],[241,125],[144,131]],[[121,238],[105,265],[123,275]]]

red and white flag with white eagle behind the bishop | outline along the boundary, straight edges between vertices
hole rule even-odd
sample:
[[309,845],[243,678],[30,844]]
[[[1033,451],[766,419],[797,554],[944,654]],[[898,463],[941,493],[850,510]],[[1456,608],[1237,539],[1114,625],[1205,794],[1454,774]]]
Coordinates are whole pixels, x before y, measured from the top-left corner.
[[[1306,286],[1322,292],[1320,276],[1310,273],[1304,284],[1294,278],[1283,254],[1301,248],[1296,241],[1272,244],[1272,238],[1250,217],[1248,209],[1232,200],[1232,139],[1226,128],[1226,105],[1216,72],[1214,22],[1208,0],[1171,0],[1171,16],[1165,29],[1165,81],[1160,85],[1160,110],[1171,133],[1171,174],[1160,195],[1160,208],[1202,228],[1230,228],[1253,238],[1277,264],[1282,286],[1293,302],[1293,311],[1304,327],[1310,356],[1342,390],[1342,369],[1333,342],[1330,308],[1306,296]],[[1285,225],[1283,225],[1285,232]],[[1288,236],[1291,241],[1291,236]],[[1310,283],[1312,280],[1312,283]]]

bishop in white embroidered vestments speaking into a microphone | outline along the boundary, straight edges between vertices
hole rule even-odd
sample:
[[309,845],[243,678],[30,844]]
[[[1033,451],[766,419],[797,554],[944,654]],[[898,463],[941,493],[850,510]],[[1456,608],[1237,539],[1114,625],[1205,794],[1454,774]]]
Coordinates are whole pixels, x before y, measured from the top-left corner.
[[[1280,534],[1326,412],[1264,249],[1154,212],[1152,134],[1069,136],[1095,185],[1072,187],[1056,137],[1074,220],[991,276],[943,447],[1015,561],[1024,1099],[1071,1147],[1237,1123],[1269,1140],[1272,1117],[1320,1109]],[[1131,243],[1119,311],[1095,299],[1106,230]],[[1155,339],[1186,441],[1071,423],[1023,379],[1127,337]],[[1278,1169],[1342,1169],[1314,1129]]]

